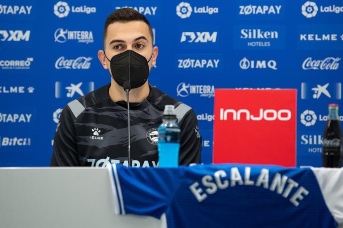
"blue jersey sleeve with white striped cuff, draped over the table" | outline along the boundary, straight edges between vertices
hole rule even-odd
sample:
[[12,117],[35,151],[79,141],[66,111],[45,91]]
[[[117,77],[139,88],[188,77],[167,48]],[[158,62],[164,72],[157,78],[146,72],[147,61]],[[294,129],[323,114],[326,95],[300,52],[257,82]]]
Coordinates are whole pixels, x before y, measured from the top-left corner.
[[[182,182],[184,168],[137,168],[107,165],[115,213],[160,219]],[[144,170],[142,170],[144,169]]]

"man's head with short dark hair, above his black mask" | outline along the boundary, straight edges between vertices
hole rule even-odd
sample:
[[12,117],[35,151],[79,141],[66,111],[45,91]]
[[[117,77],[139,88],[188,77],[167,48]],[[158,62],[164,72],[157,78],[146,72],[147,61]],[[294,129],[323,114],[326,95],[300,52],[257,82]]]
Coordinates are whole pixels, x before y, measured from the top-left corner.
[[[104,69],[109,69],[109,60],[124,51],[132,50],[144,56],[149,69],[156,65],[158,48],[153,47],[153,30],[146,17],[132,8],[121,8],[112,12],[105,21],[103,31],[104,51],[98,51],[98,58]],[[106,56],[105,56],[106,54]]]

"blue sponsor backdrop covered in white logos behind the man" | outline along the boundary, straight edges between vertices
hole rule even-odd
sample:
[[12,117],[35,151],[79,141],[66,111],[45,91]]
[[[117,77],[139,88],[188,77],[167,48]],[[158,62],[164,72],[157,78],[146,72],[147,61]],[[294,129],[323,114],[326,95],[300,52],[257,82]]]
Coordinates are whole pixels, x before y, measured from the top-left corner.
[[343,104],[341,0],[0,0],[0,166],[49,165],[62,108],[110,81],[96,53],[120,7],[151,22],[150,83],[194,108],[204,163],[214,88],[296,88],[296,163],[321,165],[327,106]]

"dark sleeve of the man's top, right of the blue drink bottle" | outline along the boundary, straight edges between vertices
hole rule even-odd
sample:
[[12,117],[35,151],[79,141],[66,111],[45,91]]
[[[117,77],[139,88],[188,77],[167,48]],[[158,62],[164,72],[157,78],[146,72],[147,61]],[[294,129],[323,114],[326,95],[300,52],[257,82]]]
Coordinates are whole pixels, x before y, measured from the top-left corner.
[[189,165],[201,162],[201,136],[198,120],[193,109],[189,110],[179,122],[181,142],[178,163]]

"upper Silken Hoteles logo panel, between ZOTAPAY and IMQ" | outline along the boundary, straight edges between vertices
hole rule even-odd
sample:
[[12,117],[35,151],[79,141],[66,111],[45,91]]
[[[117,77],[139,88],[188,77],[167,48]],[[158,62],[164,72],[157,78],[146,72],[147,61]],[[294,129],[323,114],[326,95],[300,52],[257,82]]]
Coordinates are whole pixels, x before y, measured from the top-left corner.
[[235,26],[234,34],[236,49],[282,49],[285,46],[285,27],[281,25],[240,25]]

